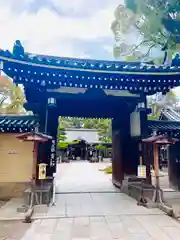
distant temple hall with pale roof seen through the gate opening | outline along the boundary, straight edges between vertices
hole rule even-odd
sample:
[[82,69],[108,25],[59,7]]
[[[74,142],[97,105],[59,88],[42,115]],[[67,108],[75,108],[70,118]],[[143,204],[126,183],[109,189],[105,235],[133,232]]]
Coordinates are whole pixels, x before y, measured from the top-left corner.
[[92,160],[98,157],[111,157],[112,144],[102,143],[99,140],[97,129],[67,128],[65,129],[66,140],[57,148],[58,157],[63,161],[69,160]]

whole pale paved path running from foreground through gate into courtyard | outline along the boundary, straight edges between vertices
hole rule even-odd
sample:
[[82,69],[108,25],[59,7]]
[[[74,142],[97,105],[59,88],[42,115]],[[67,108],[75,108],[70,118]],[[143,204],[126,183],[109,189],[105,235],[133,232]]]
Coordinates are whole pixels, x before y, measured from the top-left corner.
[[[69,192],[73,184],[74,192],[82,193],[57,194],[56,206],[49,208],[46,219],[36,220],[21,240],[180,239],[178,222],[158,209],[139,207],[134,199],[115,191],[109,176],[99,172],[99,167],[69,164],[64,176],[59,172],[58,191],[65,192],[66,186]],[[79,181],[83,182],[86,176],[88,181],[80,185]]]

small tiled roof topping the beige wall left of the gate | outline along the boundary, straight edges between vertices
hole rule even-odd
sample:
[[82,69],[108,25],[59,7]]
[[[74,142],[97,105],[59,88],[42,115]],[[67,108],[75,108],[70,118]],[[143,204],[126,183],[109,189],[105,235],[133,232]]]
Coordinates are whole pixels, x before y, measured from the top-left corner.
[[0,116],[0,133],[25,133],[34,130],[38,118],[36,116]]

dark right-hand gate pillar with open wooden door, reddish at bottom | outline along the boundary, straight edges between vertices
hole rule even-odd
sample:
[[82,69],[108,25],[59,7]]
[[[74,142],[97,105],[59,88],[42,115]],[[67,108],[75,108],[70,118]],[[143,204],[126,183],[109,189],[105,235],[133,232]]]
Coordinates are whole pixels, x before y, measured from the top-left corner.
[[130,136],[130,115],[112,120],[112,178],[121,186],[124,175],[136,176],[139,159],[138,142]]

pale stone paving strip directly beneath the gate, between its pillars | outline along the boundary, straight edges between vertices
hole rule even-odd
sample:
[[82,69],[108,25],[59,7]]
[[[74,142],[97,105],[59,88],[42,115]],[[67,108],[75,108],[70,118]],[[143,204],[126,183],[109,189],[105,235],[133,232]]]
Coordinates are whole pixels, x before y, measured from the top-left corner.
[[137,202],[123,193],[58,194],[56,206],[45,217],[116,216],[134,214],[163,214],[159,209],[137,206]]

